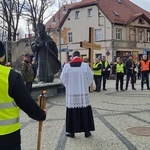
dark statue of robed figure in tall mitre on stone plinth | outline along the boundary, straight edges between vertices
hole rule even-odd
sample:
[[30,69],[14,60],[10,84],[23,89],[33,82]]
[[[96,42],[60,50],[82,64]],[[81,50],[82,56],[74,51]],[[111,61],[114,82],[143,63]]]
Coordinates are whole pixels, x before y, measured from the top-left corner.
[[37,62],[37,77],[42,82],[53,82],[54,74],[60,68],[58,60],[58,49],[53,39],[45,32],[45,25],[38,23],[39,36],[32,43],[32,51]]

